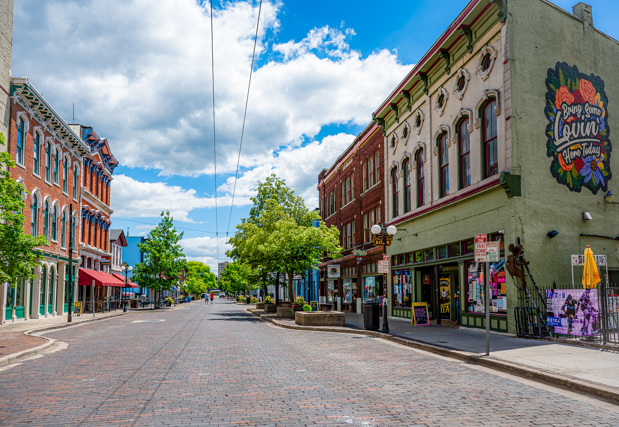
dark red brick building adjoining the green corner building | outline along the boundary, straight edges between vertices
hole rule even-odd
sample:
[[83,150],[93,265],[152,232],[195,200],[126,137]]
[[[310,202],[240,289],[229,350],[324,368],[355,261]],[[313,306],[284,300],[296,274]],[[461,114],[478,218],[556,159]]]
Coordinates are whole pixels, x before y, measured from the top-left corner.
[[[383,259],[382,247],[374,247],[373,224],[384,222],[383,159],[384,137],[379,126],[370,123],[329,169],[318,175],[319,207],[327,227],[340,231],[342,257],[327,258],[319,265],[322,302],[337,303],[342,310],[357,311],[365,298],[382,296],[383,275],[377,272]],[[355,248],[367,250],[360,262]],[[339,265],[340,276],[330,278],[328,265]]]

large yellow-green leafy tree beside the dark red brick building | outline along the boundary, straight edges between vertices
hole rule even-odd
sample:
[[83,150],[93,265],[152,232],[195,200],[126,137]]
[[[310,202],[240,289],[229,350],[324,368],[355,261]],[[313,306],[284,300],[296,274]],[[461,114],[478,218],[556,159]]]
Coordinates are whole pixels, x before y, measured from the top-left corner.
[[303,198],[295,196],[275,175],[259,183],[256,191],[249,218],[236,226],[227,255],[253,268],[276,272],[276,288],[279,273],[288,273],[288,294],[292,297],[295,271],[314,268],[324,252],[339,257],[339,231],[337,227],[327,228],[319,214],[309,211]]

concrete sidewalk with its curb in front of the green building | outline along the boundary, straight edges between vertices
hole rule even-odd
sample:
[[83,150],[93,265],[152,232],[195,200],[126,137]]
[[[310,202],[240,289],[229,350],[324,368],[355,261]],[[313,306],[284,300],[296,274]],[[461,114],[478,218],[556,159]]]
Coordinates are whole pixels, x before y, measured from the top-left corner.
[[410,320],[395,319],[389,319],[389,333],[366,331],[363,315],[355,313],[345,313],[346,327],[311,327],[262,310],[247,310],[280,327],[371,335],[619,404],[619,351],[491,334],[490,356],[485,356],[483,332],[437,325],[416,327]]

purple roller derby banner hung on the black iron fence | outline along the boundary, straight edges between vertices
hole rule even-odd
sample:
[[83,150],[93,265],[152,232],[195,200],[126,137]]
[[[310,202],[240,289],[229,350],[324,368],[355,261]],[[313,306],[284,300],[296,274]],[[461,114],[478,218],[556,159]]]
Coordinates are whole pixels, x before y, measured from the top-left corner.
[[545,289],[545,292],[550,332],[581,336],[600,333],[597,289],[554,289],[554,292]]

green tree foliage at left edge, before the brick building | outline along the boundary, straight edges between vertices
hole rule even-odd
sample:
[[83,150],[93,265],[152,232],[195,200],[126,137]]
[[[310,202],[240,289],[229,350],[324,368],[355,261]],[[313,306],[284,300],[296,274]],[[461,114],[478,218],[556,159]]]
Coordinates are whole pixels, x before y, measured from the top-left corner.
[[[0,145],[5,145],[2,133]],[[44,259],[37,247],[48,245],[44,236],[24,232],[26,205],[22,193],[30,193],[7,172],[14,165],[8,152],[0,153],[0,283],[8,282],[12,288],[17,280],[37,278],[33,269]]]

